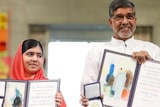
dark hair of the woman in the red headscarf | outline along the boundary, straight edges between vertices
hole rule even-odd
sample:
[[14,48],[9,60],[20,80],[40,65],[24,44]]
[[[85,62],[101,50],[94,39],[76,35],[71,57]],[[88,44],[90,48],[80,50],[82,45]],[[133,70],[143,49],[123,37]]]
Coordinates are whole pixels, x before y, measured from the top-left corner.
[[39,41],[37,41],[35,39],[27,39],[27,40],[23,41],[23,44],[22,44],[22,54],[26,50],[28,50],[30,48],[33,48],[33,47],[36,47],[38,45],[40,46],[40,48],[42,50],[42,53],[43,53],[43,46],[42,46],[42,44]]

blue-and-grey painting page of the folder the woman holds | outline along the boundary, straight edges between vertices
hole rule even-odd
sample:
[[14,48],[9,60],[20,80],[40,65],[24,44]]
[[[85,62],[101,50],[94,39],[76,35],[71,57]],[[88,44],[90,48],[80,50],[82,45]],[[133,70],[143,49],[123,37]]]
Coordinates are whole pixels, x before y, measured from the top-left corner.
[[7,81],[3,107],[25,107],[26,81]]

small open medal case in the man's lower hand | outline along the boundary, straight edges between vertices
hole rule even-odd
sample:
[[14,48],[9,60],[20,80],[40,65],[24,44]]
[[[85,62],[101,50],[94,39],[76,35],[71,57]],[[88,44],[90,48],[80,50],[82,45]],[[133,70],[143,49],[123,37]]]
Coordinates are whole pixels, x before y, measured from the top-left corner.
[[85,84],[84,95],[89,100],[88,107],[103,107],[99,82]]

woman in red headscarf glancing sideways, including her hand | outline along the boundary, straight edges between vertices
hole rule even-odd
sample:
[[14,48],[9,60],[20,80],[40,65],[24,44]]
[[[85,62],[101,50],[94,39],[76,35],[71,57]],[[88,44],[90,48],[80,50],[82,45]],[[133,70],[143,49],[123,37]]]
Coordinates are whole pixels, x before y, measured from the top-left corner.
[[[14,80],[47,80],[43,70],[42,44],[34,39],[23,41],[12,62],[10,78]],[[57,107],[66,107],[61,93],[55,95]]]

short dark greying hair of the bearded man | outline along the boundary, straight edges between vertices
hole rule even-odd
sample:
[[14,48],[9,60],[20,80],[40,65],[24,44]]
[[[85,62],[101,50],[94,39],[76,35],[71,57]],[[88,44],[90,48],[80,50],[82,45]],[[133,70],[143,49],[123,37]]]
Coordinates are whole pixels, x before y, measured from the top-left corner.
[[136,15],[135,6],[129,0],[113,0],[112,3],[109,6],[109,16],[110,16],[110,18],[114,16],[114,12],[118,8],[123,8],[123,7],[124,8],[126,8],[126,7],[133,8],[134,15]]

